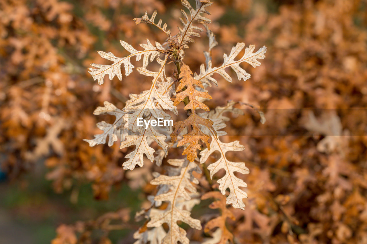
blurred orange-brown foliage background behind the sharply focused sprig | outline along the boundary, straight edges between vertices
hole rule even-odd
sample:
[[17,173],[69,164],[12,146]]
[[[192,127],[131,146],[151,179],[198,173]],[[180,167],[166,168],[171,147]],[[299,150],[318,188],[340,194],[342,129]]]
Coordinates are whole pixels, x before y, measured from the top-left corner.
[[[97,50],[123,56],[120,39],[162,43],[154,26],[132,19],[157,10],[175,33],[181,8],[178,0],[0,0],[0,243],[76,243],[75,233],[79,243],[134,242],[134,214],[157,169],[124,171],[126,149],[83,139],[113,119],[92,115],[97,106],[123,108],[150,82],[133,72],[98,86],[87,68],[104,62]],[[231,210],[228,221],[235,242],[366,244],[367,1],[215,0],[208,10],[214,65],[236,42],[268,47],[261,66],[246,66],[249,80],[210,89],[212,106],[242,101],[267,120],[246,110],[227,126],[246,147],[231,157],[250,169],[246,210]],[[193,71],[207,48],[203,34],[186,50]],[[192,216],[215,214],[209,203]]]

